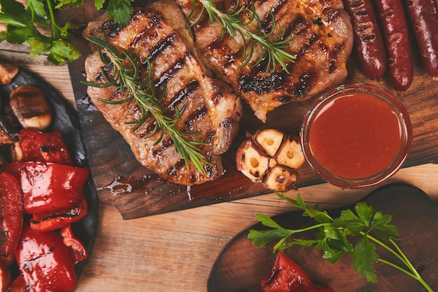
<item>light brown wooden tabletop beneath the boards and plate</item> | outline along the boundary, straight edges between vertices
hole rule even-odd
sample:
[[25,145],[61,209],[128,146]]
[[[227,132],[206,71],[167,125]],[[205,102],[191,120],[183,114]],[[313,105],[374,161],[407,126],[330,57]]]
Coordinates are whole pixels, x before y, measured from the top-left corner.
[[[74,104],[68,67],[53,66],[43,57],[30,59],[23,50],[0,43],[1,58],[38,74]],[[438,201],[438,164],[402,169],[387,183],[395,181],[417,186]],[[330,208],[360,200],[372,189],[341,190],[324,183],[287,195],[300,193]],[[270,194],[125,221],[114,207],[99,204],[96,242],[76,291],[204,292],[220,251],[257,222],[257,212],[271,216],[291,209]]]

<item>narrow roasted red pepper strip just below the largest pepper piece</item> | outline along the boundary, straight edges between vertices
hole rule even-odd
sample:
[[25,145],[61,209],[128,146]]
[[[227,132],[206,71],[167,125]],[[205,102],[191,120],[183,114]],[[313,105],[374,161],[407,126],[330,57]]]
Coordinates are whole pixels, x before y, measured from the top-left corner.
[[52,231],[64,228],[66,225],[77,222],[87,214],[87,201],[85,197],[75,207],[64,211],[43,214],[33,214],[31,228],[40,231]]

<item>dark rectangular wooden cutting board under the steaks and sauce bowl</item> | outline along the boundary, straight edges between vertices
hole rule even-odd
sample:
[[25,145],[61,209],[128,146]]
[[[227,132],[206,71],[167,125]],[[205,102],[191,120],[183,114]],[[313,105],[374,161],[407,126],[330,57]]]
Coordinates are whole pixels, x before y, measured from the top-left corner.
[[[71,22],[78,25],[79,33],[85,28],[87,21],[99,15],[87,5],[76,10],[69,13],[68,17],[71,18],[73,15],[74,19]],[[245,139],[246,131],[275,128],[298,135],[302,118],[309,109],[311,100],[294,102],[271,111],[265,124],[257,120],[249,107],[245,106],[239,135],[229,151],[222,155],[225,174],[220,179],[202,186],[179,186],[160,179],[155,173],[141,166],[121,135],[115,132],[101,113],[90,104],[86,87],[80,84],[80,81],[85,80],[84,60],[88,48],[80,35],[77,39],[83,57],[71,63],[69,69],[99,200],[113,204],[123,218],[130,219],[270,193],[260,183],[252,183],[236,170],[236,148]],[[407,92],[398,95],[407,107],[414,127],[412,150],[403,167],[438,160],[438,81],[433,81],[424,71],[418,54],[415,54],[414,62],[414,83]],[[388,85],[386,78],[379,82],[369,81],[357,68],[354,55],[350,58],[348,71],[346,83],[370,83],[397,95]],[[322,182],[309,165],[300,169],[298,187]]]

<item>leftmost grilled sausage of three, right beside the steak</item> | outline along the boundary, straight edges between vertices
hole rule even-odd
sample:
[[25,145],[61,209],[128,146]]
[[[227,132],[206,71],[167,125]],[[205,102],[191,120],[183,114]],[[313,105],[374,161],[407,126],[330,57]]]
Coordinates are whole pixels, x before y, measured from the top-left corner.
[[387,61],[374,8],[369,0],[344,0],[344,6],[353,23],[355,50],[360,67],[368,78],[380,80],[385,74]]

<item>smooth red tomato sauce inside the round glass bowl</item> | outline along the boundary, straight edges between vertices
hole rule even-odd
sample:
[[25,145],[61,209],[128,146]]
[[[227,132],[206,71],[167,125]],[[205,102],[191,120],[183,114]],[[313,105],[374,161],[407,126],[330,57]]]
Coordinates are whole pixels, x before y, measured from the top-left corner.
[[365,92],[341,95],[326,104],[309,130],[314,158],[344,179],[379,174],[395,160],[402,130],[389,104]]

